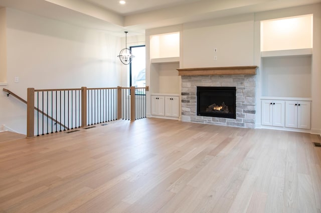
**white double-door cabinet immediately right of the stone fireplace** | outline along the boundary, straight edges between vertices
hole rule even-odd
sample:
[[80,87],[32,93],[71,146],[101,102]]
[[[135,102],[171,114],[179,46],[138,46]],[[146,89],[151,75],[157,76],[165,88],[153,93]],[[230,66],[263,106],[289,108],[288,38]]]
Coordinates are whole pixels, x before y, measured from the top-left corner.
[[284,100],[262,100],[262,125],[284,126]]

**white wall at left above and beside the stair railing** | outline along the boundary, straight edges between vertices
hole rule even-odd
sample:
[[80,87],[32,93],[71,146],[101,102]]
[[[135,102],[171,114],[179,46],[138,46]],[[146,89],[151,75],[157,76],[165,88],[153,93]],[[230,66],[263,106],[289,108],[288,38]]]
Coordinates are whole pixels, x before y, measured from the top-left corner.
[[[7,80],[21,97],[27,88],[115,87],[120,38],[7,8]],[[14,78],[19,77],[19,83]],[[0,93],[0,124],[26,133],[26,105]]]

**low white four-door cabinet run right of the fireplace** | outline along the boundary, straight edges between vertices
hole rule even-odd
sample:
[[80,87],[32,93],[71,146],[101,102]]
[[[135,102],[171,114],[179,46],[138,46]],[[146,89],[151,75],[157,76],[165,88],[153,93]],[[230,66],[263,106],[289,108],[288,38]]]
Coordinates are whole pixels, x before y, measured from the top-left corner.
[[[305,98],[308,99],[308,98]],[[310,129],[311,101],[291,98],[262,99],[261,124]]]

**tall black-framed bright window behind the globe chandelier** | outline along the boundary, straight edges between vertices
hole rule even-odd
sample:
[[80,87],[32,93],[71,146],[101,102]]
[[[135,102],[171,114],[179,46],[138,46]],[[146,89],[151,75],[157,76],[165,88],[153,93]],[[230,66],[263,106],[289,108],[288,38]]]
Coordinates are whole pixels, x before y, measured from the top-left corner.
[[129,85],[135,86],[135,87],[145,87],[146,86],[145,45],[130,46],[130,51],[135,57],[130,63]]

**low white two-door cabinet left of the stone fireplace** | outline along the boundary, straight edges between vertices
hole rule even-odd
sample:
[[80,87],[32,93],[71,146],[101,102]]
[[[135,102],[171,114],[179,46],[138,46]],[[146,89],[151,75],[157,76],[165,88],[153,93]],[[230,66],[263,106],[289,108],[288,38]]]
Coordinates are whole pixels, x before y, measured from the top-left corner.
[[180,95],[179,94],[151,94],[151,115],[178,119],[180,116]]

